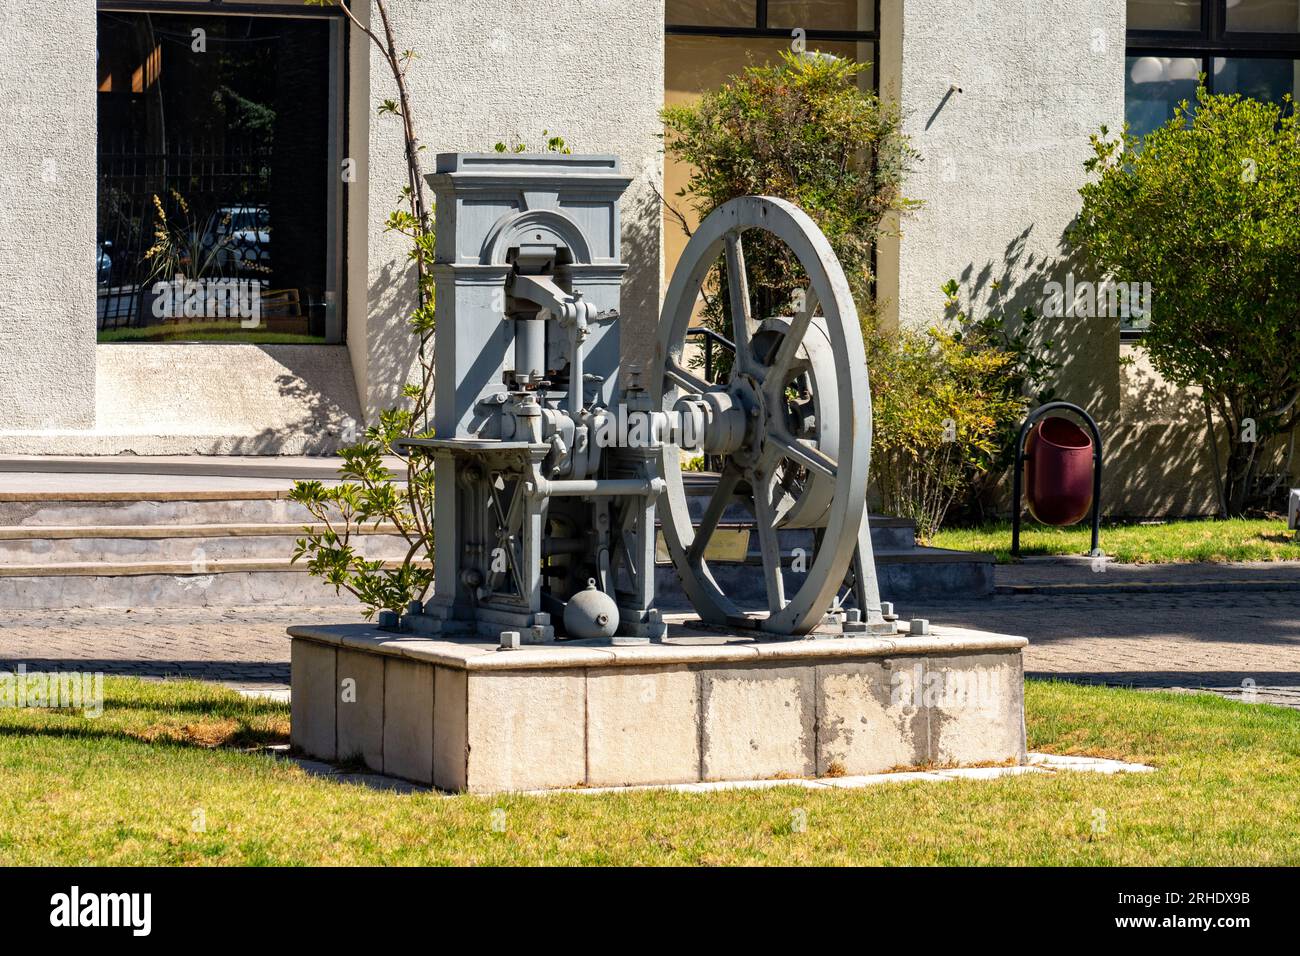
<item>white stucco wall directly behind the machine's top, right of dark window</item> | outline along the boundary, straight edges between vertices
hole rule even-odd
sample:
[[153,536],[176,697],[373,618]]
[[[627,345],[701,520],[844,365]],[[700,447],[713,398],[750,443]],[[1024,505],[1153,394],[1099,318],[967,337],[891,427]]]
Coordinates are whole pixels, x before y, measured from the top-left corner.
[[[402,48],[421,56],[410,70],[417,134],[433,156],[485,151],[514,139],[537,147],[542,130],[575,152],[610,152],[633,183],[623,200],[624,355],[650,352],[659,308],[660,220],[653,185],[662,178],[663,0],[473,0],[390,4]],[[376,21],[378,17],[376,16]],[[367,415],[394,405],[412,365],[406,315],[413,300],[400,237],[384,232],[404,177],[402,135],[374,107],[395,96],[387,68],[354,39],[354,126],[365,130],[365,168],[348,189],[352,226],[348,346]],[[364,92],[363,92],[364,90]],[[354,130],[354,135],[356,131]],[[361,143],[354,139],[354,150]],[[359,245],[364,243],[364,245]],[[364,269],[363,269],[364,264]]]

